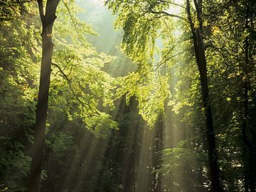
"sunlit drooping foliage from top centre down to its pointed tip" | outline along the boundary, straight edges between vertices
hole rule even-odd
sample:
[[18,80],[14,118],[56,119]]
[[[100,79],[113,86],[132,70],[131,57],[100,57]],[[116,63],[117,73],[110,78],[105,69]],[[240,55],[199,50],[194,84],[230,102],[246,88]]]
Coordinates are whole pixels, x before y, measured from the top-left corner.
[[[149,125],[154,125],[171,94],[169,79],[178,41],[174,25],[183,17],[176,15],[182,4],[173,1],[106,1],[117,14],[116,28],[124,30],[122,50],[137,62],[137,72],[122,79],[129,89],[120,86],[118,93],[137,96],[139,111]],[[170,12],[172,11],[172,12]],[[132,79],[132,80],[131,80]],[[123,89],[122,89],[123,88]],[[156,102],[157,98],[157,102]]]

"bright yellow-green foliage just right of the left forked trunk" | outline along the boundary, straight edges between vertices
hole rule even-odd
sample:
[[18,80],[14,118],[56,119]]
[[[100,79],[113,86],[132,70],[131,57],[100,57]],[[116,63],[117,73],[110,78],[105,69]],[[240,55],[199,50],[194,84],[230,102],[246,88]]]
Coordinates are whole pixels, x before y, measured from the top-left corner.
[[75,4],[62,1],[58,11],[50,107],[58,106],[70,120],[81,119],[86,128],[105,137],[108,129],[117,128],[111,116],[100,111],[106,106],[113,108],[114,79],[102,68],[114,57],[97,53],[87,42],[84,35],[95,32],[75,16],[78,13]]

